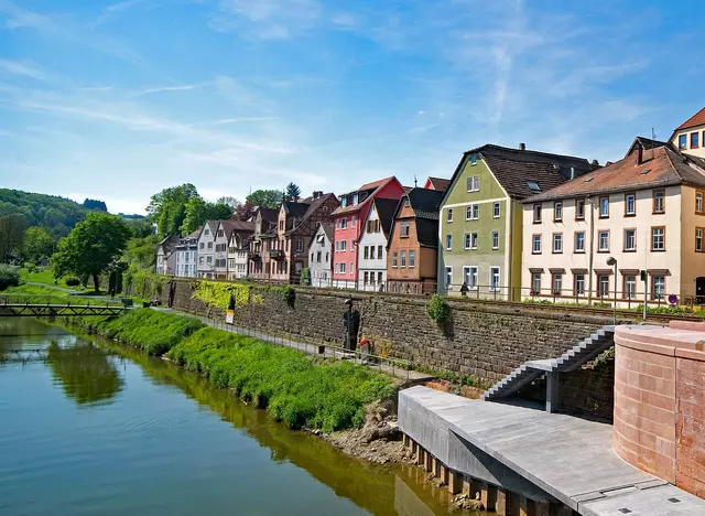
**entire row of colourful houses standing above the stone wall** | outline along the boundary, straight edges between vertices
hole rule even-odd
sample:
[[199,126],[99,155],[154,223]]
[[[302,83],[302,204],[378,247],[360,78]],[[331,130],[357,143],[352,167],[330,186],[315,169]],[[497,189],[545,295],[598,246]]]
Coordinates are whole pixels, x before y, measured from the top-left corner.
[[604,166],[486,144],[423,187],[391,176],[284,198],[247,222],[208,221],[165,239],[158,269],[272,282],[307,269],[314,287],[505,300],[701,302],[704,158],[705,109],[669,141],[638,137]]

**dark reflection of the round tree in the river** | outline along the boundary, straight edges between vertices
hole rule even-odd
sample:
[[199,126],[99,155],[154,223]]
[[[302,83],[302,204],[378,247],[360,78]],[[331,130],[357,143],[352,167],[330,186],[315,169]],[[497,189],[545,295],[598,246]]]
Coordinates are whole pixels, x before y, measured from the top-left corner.
[[93,344],[62,347],[52,341],[46,363],[64,394],[78,405],[112,399],[122,389],[118,369]]

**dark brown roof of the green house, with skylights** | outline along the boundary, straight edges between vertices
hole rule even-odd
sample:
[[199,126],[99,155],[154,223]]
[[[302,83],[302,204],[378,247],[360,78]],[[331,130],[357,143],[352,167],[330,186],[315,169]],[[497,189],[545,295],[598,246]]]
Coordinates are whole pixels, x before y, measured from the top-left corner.
[[[455,183],[457,176],[463,172],[465,162],[473,154],[479,154],[485,160],[485,163],[507,194],[520,200],[530,197],[535,193],[529,187],[528,181],[536,182],[539,189],[545,192],[568,181],[571,169],[573,169],[575,175],[582,175],[592,172],[597,166],[597,164],[592,164],[585,158],[510,149],[490,143],[463,154],[458,166],[453,173],[451,184]],[[446,190],[445,193],[449,193],[449,190]]]

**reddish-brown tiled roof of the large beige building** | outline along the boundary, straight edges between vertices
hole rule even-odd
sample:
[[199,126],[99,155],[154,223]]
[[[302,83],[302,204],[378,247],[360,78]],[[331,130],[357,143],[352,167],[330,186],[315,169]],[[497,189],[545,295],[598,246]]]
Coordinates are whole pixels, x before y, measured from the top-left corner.
[[529,197],[525,203],[581,195],[626,192],[675,184],[705,186],[705,160],[679,152],[670,144],[650,149],[637,163],[632,152],[609,166],[568,181],[550,192]]

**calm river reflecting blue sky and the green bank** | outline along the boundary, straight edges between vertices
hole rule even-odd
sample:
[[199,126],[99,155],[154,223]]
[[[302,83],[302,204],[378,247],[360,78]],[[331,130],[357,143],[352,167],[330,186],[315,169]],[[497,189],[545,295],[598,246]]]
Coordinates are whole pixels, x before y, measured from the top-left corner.
[[0,361],[0,515],[449,513],[417,467],[349,458],[110,342],[7,318]]

